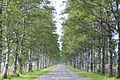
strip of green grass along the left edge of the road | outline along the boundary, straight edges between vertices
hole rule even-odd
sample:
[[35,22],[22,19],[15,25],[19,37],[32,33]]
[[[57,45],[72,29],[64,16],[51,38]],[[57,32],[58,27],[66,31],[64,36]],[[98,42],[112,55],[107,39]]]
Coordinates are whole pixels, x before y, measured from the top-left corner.
[[30,73],[24,73],[24,74],[19,74],[19,77],[16,75],[10,75],[8,79],[2,79],[2,80],[32,80],[46,72],[51,71],[55,66],[48,67],[42,70],[30,72]]

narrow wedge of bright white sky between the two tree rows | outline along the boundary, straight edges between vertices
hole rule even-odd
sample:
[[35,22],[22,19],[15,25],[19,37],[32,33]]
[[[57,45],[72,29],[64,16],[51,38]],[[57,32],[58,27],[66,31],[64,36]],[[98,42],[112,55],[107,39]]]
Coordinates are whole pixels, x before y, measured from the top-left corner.
[[59,43],[59,48],[61,50],[62,48],[62,20],[61,17],[63,17],[63,15],[61,15],[61,12],[63,12],[65,10],[66,7],[66,1],[67,0],[49,0],[51,1],[51,5],[55,8],[55,13],[54,16],[55,18],[53,19],[54,21],[56,21],[56,33],[58,34],[58,43]]

